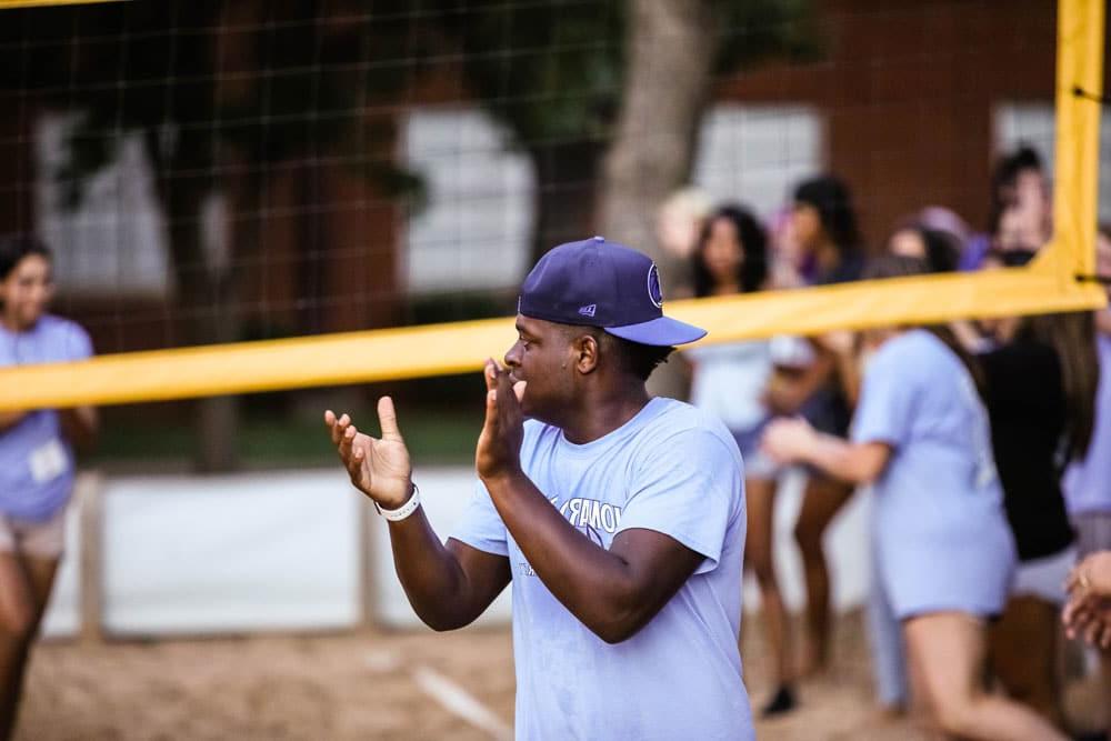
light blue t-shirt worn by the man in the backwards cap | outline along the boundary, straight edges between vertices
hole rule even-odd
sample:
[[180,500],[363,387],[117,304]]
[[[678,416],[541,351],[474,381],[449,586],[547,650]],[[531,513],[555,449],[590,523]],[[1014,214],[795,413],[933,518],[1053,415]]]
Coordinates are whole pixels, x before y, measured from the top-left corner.
[[517,738],[753,738],[737,650],[742,463],[724,425],[670,399],[651,400],[582,445],[529,421],[521,464],[552,507],[602,548],[642,528],[705,560],[635,635],[608,644],[548,591],[479,484],[453,537],[510,560]]

